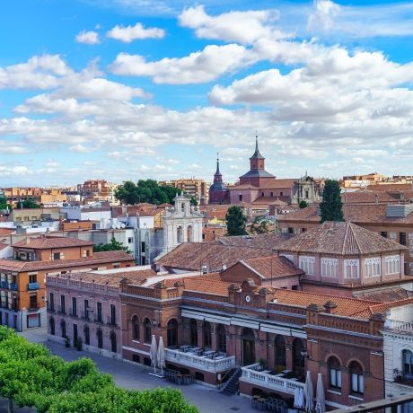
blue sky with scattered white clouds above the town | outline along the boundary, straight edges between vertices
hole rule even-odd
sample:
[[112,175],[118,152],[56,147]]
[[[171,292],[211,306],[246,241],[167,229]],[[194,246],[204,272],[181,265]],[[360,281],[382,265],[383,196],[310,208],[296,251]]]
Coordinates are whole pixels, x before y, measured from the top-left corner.
[[0,187],[413,174],[413,2],[13,0]]

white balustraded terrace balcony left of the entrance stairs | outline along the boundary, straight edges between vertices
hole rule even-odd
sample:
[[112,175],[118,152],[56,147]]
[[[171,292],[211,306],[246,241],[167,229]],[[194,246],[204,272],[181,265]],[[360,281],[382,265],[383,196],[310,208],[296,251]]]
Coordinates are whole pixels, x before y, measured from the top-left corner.
[[191,352],[183,352],[171,348],[165,348],[165,359],[171,363],[186,365],[187,367],[193,367],[211,373],[224,372],[235,367],[235,356],[209,358],[207,356],[197,356]]

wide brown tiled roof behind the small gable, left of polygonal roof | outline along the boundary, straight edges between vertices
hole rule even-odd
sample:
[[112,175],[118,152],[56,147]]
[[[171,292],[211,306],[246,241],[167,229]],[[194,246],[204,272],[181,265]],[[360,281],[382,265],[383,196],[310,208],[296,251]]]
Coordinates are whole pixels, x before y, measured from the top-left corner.
[[224,265],[235,264],[240,259],[265,257],[271,254],[271,246],[266,248],[233,247],[221,242],[185,242],[168,252],[157,264],[167,268],[199,271],[206,266],[208,272],[220,271]]

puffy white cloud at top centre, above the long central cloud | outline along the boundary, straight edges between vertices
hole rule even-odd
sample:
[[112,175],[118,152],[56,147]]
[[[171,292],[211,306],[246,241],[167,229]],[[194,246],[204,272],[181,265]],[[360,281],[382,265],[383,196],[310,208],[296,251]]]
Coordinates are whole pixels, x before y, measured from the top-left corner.
[[229,12],[217,16],[205,13],[203,5],[189,7],[179,16],[181,26],[195,29],[198,38],[250,44],[260,38],[288,37],[271,24],[279,17],[275,10]]

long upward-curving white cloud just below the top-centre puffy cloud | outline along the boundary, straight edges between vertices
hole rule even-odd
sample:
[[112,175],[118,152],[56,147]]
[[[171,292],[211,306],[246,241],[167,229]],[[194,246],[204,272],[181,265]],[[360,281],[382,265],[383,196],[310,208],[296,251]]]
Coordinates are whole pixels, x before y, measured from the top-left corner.
[[154,83],[206,83],[254,61],[243,46],[208,45],[187,57],[164,57],[154,62],[146,62],[145,57],[139,55],[120,53],[110,65],[110,71],[115,75],[149,76]]

